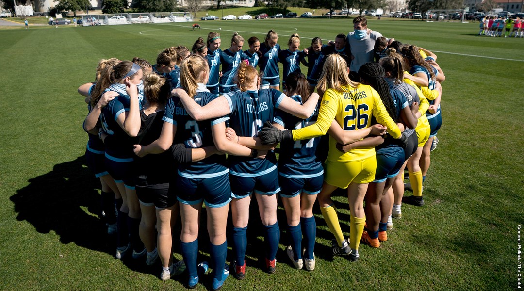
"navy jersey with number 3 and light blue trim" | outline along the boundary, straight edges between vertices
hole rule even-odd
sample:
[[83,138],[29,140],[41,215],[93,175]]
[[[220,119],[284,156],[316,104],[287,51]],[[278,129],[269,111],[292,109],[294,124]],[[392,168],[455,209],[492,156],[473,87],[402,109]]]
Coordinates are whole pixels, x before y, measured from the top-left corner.
[[[205,85],[200,84],[194,100],[204,106],[217,98],[209,92]],[[176,140],[182,141],[188,149],[198,149],[213,145],[211,123],[224,122],[225,118],[195,121],[182,106],[179,97],[171,97],[166,106],[164,121],[177,126]],[[180,164],[178,173],[188,178],[215,177],[227,173],[225,155],[214,154],[208,158],[195,163]]]

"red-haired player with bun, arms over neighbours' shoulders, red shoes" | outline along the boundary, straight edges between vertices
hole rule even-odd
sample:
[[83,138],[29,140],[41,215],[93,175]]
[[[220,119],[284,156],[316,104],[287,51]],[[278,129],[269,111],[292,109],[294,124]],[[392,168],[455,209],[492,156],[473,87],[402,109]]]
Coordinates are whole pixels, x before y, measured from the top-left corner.
[[261,145],[255,137],[265,121],[273,120],[276,108],[281,108],[300,118],[308,118],[313,113],[319,97],[314,93],[307,102],[300,105],[275,89],[258,90],[259,82],[255,68],[248,66],[246,62],[241,62],[237,72],[237,85],[240,91],[221,95],[204,107],[195,103],[183,89],[178,88],[173,91],[174,96],[180,96],[187,113],[195,120],[228,115],[229,125],[239,137],[237,142],[248,144],[249,148],[253,149],[250,158],[235,155],[229,155],[227,158],[230,169],[235,251],[235,262],[231,270],[237,279],[245,277],[246,230],[249,221],[249,204],[253,194],[260,206],[260,219],[265,230],[265,260],[268,273],[276,271],[275,255],[280,240],[276,212],[276,193],[280,191],[277,161],[275,153],[267,151],[272,146]]

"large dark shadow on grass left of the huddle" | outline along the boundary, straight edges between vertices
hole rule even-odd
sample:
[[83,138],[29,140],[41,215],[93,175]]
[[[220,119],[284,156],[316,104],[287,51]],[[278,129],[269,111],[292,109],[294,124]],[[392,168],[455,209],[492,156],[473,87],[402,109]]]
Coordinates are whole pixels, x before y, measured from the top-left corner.
[[63,244],[74,242],[101,252],[114,249],[99,218],[100,182],[85,166],[84,156],[54,165],[28,182],[10,197],[17,220],[26,220],[40,233],[56,232]]

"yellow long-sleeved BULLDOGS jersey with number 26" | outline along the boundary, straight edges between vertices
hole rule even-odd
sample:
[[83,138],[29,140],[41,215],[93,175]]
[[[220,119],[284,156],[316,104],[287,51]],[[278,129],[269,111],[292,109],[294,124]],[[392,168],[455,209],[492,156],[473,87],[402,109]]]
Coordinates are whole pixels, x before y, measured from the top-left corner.
[[[369,85],[359,84],[356,87],[343,86],[343,91],[328,89],[322,96],[319,116],[313,125],[293,130],[293,140],[310,139],[325,135],[336,122],[344,130],[361,130],[371,126],[371,116],[386,126],[388,133],[398,139],[401,132],[391,119],[380,99],[380,95]],[[343,153],[336,149],[336,141],[330,137],[328,160],[330,161],[359,161],[375,155],[375,149],[354,149]]]

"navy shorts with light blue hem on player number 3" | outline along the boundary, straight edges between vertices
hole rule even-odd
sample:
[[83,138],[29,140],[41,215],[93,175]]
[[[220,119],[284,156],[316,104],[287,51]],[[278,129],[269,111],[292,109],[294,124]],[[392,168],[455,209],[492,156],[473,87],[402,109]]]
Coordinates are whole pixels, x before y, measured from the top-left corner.
[[178,175],[177,199],[180,203],[218,208],[231,201],[231,186],[228,174],[210,178],[188,178]]

